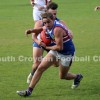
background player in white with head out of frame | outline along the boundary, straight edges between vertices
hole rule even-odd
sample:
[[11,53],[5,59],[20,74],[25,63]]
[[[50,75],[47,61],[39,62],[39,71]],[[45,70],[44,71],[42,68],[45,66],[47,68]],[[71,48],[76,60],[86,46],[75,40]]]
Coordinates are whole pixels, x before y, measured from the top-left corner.
[[41,14],[45,12],[46,6],[51,0],[30,0],[33,7],[34,22],[41,20]]

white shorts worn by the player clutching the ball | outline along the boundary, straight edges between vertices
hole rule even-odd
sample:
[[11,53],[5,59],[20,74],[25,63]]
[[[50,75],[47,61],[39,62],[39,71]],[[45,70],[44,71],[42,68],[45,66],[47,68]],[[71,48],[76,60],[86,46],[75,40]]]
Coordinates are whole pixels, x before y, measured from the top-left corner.
[[50,50],[49,53],[54,55],[56,57],[56,60],[59,59],[59,64],[61,64],[64,67],[69,67],[73,59],[72,55],[63,55],[54,50]]

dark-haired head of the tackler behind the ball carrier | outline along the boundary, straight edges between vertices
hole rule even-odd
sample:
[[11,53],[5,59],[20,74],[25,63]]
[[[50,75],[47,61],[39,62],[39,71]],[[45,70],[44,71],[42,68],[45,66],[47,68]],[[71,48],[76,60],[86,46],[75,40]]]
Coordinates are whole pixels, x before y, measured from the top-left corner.
[[51,2],[47,5],[47,12],[52,13],[54,16],[54,19],[56,19],[57,8],[58,8],[58,5],[55,2]]

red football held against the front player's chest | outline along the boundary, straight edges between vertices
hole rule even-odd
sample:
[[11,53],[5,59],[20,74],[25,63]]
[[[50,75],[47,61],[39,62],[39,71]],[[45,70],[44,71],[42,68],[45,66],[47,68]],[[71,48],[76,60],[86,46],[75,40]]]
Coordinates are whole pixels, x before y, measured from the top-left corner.
[[49,34],[46,33],[46,30],[43,30],[40,33],[40,38],[41,38],[42,42],[44,42],[46,45],[49,45],[51,43],[51,38],[50,38]]

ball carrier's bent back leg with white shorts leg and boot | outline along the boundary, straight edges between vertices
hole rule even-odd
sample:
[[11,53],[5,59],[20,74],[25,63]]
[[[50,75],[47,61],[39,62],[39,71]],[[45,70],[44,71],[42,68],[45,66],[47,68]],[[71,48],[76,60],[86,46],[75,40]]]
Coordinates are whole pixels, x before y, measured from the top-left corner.
[[71,55],[63,55],[63,59],[60,59],[60,78],[61,79],[66,79],[66,80],[72,80],[74,79],[74,82],[72,84],[72,88],[76,88],[79,86],[81,79],[83,76],[81,74],[73,74],[73,73],[68,73],[71,64],[72,64],[72,56]]

